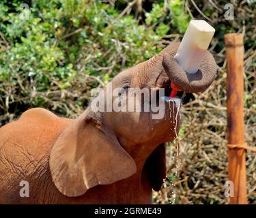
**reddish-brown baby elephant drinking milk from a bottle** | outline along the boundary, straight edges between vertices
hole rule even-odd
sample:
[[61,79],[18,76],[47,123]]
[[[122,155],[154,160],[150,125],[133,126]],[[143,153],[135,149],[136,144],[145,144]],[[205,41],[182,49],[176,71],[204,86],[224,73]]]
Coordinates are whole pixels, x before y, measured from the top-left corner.
[[[165,142],[177,136],[181,122],[181,99],[153,93],[163,88],[169,96],[170,82],[201,92],[216,76],[209,52],[196,74],[186,74],[173,58],[178,46],[119,73],[74,120],[33,108],[1,127],[0,203],[152,203],[152,189],[166,178]],[[153,117],[153,104],[162,104],[161,116]],[[120,110],[109,110],[114,106]]]

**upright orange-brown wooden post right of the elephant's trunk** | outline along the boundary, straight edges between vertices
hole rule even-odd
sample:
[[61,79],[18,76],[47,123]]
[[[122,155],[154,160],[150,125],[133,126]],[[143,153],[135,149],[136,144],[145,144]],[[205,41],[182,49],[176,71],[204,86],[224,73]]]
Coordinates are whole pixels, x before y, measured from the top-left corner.
[[242,33],[225,35],[227,58],[227,141],[229,181],[233,181],[230,204],[247,204],[246,151],[244,144],[244,44]]

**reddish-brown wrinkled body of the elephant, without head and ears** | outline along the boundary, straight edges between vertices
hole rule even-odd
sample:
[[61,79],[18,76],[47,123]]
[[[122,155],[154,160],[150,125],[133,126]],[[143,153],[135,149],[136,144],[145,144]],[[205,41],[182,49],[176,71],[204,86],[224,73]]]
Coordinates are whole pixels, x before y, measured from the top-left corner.
[[[33,108],[0,129],[0,204],[150,204],[152,187],[143,179],[143,170],[83,196],[70,198],[59,192],[51,179],[49,155],[72,121]],[[29,197],[20,197],[20,181],[29,182]]]

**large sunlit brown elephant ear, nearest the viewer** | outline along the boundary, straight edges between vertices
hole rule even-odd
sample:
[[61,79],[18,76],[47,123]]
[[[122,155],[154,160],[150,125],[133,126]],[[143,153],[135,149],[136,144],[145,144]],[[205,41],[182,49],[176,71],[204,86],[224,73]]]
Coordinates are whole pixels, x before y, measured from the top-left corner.
[[116,136],[85,111],[65,129],[50,154],[53,183],[65,196],[83,195],[136,172],[134,160]]

